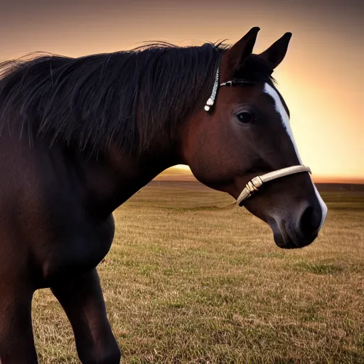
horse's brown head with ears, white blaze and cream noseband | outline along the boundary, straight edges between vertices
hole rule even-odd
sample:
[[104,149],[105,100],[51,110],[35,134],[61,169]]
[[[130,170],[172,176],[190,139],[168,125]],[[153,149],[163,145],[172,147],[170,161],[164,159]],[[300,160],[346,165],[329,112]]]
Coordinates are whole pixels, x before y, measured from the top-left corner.
[[304,247],[318,236],[327,208],[302,164],[289,109],[271,76],[291,33],[253,54],[258,31],[252,28],[220,58],[205,108],[183,129],[183,159],[200,182],[269,224],[279,247]]

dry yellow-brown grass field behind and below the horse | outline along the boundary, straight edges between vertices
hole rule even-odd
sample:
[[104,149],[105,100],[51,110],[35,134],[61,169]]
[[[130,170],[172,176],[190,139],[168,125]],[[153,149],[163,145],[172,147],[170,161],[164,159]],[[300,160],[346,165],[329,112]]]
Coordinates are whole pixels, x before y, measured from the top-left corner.
[[[122,363],[364,363],[364,193],[322,193],[302,250],[198,183],[154,182],[115,213],[99,272]],[[40,363],[79,363],[48,289],[33,301]]]

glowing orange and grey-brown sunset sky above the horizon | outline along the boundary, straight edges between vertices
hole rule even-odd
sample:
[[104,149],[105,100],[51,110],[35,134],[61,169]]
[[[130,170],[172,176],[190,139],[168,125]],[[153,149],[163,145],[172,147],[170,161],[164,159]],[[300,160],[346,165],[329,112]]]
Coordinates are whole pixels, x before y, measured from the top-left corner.
[[364,182],[363,0],[4,2],[0,60],[33,51],[77,57],[144,41],[234,43],[252,26],[261,28],[259,53],[290,31],[274,77],[301,159],[315,181]]

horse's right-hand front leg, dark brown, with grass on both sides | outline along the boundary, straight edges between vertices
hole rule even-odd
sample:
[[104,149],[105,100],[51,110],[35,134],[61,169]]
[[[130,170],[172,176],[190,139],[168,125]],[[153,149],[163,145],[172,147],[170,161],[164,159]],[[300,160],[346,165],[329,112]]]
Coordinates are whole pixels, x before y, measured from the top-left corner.
[[120,349],[105,309],[97,270],[50,288],[63,306],[83,364],[119,364]]

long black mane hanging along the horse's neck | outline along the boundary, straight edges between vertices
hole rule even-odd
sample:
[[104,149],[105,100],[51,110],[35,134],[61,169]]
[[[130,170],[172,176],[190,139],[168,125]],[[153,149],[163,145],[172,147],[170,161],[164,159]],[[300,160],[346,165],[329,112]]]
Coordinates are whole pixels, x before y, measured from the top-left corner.
[[41,55],[0,63],[0,130],[17,123],[30,143],[48,136],[52,144],[95,151],[117,141],[124,152],[142,153],[203,108],[225,49],[221,43],[156,43],[80,58]]

